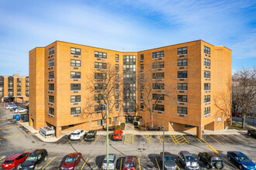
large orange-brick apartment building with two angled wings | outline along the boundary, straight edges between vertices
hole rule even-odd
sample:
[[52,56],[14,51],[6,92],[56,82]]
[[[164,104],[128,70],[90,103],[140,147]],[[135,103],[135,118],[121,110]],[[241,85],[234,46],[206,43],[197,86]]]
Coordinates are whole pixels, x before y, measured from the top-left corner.
[[[140,117],[141,124],[197,131],[200,138],[204,130],[229,125],[230,110],[221,109],[229,106],[220,96],[230,93],[231,55],[230,49],[202,40],[134,53],[61,41],[36,47],[29,51],[29,124],[37,130],[53,126],[57,137],[61,131],[102,128],[106,120],[96,108],[90,116],[82,112],[94,95],[88,80],[99,66],[112,64],[123,68],[123,106],[109,115],[110,126]],[[153,87],[150,102],[160,99],[153,105],[153,122],[143,104],[146,83]]]

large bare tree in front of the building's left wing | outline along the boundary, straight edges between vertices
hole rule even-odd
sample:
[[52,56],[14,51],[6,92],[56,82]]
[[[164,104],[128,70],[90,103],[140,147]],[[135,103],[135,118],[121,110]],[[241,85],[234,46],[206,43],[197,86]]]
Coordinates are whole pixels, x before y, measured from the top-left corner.
[[[90,94],[82,111],[85,119],[101,114],[102,120],[105,120],[106,105],[109,106],[109,115],[114,110],[119,110],[120,114],[123,106],[123,75],[119,66],[106,63],[92,70],[92,76],[88,79],[88,91]],[[102,128],[104,124],[105,122],[102,122]]]

